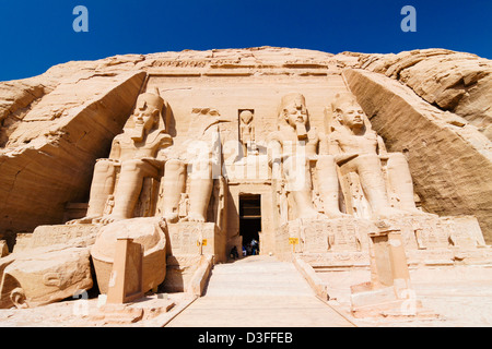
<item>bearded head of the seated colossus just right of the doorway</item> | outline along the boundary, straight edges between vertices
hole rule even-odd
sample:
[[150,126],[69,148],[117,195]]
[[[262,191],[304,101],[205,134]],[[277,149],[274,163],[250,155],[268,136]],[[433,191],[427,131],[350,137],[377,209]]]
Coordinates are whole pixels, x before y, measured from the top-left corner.
[[306,125],[308,122],[308,113],[306,108],[306,99],[302,94],[293,93],[282,97],[279,110],[279,117],[294,128],[297,137],[307,137]]

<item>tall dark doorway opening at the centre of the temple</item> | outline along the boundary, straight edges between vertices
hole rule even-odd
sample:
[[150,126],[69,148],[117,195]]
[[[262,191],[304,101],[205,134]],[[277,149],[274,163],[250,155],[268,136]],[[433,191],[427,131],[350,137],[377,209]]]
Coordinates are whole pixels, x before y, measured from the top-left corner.
[[259,254],[261,231],[261,195],[239,196],[239,234],[243,237],[243,255]]

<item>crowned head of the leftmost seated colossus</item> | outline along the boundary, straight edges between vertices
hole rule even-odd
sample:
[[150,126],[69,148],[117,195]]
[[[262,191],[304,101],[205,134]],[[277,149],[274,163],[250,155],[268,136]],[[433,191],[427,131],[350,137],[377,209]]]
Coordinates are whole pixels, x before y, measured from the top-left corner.
[[141,142],[159,121],[162,119],[164,99],[157,93],[143,93],[137,98],[137,104],[131,116],[133,121],[133,136],[137,142]]

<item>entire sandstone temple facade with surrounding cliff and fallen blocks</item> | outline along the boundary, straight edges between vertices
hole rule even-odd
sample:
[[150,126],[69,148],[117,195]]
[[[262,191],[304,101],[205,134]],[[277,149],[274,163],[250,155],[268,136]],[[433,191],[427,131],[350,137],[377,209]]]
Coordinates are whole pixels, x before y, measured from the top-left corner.
[[491,101],[492,62],[443,49],[128,55],[2,82],[0,306],[199,294],[251,240],[371,268],[372,290],[491,263]]

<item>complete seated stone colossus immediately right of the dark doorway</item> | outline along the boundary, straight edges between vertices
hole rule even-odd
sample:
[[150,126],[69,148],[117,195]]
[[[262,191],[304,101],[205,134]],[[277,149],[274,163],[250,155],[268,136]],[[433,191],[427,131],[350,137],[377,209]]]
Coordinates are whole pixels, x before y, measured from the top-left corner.
[[[339,209],[339,184],[333,158],[317,155],[319,136],[308,124],[308,111],[302,94],[282,97],[279,128],[269,136],[272,176],[285,179],[285,191],[292,196],[296,218],[326,219],[344,216]],[[281,168],[276,173],[276,167]],[[324,214],[313,204],[312,168],[318,178]]]

